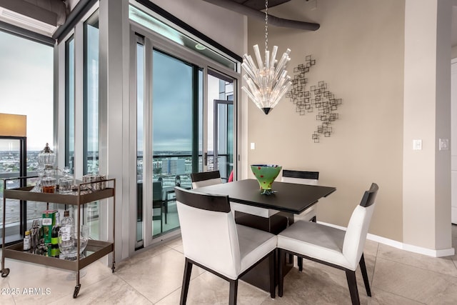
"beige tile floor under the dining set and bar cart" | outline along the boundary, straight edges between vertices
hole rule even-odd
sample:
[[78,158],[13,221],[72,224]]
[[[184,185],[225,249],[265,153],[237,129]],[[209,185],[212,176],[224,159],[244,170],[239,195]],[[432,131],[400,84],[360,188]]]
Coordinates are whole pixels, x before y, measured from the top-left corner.
[[[457,249],[457,226],[452,229]],[[114,274],[96,261],[84,269],[77,299],[71,272],[6,259],[11,272],[0,279],[0,304],[179,304],[182,251],[181,239],[169,241],[119,262]],[[437,259],[367,241],[365,260],[372,297],[358,271],[362,304],[457,304],[457,255]],[[303,272],[293,268],[286,276],[282,298],[271,299],[241,281],[238,304],[351,304],[343,271],[303,263]],[[194,267],[187,304],[228,304],[228,299],[226,281]]]

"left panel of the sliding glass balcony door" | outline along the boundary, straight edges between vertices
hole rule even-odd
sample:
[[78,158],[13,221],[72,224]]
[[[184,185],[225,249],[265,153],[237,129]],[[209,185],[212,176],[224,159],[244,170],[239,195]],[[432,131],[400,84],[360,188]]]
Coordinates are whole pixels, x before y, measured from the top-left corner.
[[150,42],[136,38],[136,248],[179,229],[174,187],[199,164],[203,69]]

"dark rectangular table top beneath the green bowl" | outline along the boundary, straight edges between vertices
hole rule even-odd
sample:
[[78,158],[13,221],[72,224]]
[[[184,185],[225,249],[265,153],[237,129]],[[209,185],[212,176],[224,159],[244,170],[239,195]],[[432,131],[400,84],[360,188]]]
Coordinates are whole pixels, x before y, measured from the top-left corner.
[[271,195],[261,195],[256,179],[233,181],[225,184],[214,184],[194,189],[206,194],[228,195],[230,201],[264,209],[274,209],[293,214],[300,214],[309,206],[316,204],[322,197],[336,191],[335,187],[273,182]]

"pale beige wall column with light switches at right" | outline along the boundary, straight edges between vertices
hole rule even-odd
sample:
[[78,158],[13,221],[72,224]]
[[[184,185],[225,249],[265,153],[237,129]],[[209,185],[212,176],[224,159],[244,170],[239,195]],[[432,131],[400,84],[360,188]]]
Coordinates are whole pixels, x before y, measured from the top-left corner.
[[[451,248],[451,1],[406,0],[403,242]],[[422,139],[423,149],[411,149]]]

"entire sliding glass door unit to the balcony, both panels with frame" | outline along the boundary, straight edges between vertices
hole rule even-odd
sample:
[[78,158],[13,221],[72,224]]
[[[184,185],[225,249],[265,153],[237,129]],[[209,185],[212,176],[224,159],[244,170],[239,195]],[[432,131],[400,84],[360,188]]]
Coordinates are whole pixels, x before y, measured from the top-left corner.
[[168,44],[141,32],[132,48],[136,249],[179,234],[175,186],[191,189],[190,174],[214,165],[227,180],[234,168],[235,79]]

